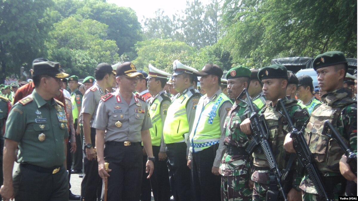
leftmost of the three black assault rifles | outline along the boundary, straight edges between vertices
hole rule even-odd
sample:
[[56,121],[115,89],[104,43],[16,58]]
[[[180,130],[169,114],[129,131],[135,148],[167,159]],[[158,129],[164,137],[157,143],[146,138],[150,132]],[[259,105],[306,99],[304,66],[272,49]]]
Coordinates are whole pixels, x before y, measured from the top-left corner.
[[[241,99],[244,95],[246,95],[247,102]],[[284,200],[287,201],[285,192],[281,184],[282,174],[280,172],[279,166],[277,165],[276,158],[274,153],[272,152],[269,141],[267,141],[267,139],[269,138],[269,127],[267,127],[265,116],[263,114],[258,114],[257,111],[255,111],[253,103],[250,99],[250,95],[248,94],[246,88],[242,90],[241,94],[237,97],[237,99],[246,103],[250,110],[251,129],[253,131],[253,140],[251,142],[251,147],[253,149],[256,147],[256,145],[260,144],[267,163],[269,163],[270,170],[272,173],[274,173],[277,184],[280,187],[279,191],[281,192],[281,195]],[[246,150],[248,150],[248,148]],[[250,153],[250,150],[248,151],[248,153]]]

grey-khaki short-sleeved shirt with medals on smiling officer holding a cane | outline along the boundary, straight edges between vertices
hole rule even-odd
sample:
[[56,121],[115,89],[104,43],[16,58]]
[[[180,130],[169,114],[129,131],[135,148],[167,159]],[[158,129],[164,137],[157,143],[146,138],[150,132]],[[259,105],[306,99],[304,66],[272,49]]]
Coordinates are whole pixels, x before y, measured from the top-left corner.
[[117,90],[101,98],[92,127],[106,131],[105,142],[141,142],[141,131],[153,126],[145,100],[132,94],[128,105]]

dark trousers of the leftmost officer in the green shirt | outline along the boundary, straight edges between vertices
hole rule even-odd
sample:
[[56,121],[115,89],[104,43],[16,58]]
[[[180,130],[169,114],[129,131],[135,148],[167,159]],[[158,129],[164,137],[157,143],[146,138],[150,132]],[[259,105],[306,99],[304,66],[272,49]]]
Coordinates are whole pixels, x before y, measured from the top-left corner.
[[64,166],[55,173],[44,173],[23,167],[13,175],[16,201],[68,201],[67,171]]

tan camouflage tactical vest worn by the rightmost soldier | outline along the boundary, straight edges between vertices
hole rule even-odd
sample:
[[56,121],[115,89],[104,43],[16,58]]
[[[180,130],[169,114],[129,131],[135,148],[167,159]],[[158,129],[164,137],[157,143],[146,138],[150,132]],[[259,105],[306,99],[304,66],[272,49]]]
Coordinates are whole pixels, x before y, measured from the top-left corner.
[[[321,172],[339,173],[339,160],[344,154],[339,144],[332,138],[323,135],[323,124],[325,120],[337,129],[337,121],[345,106],[355,102],[348,102],[342,107],[331,107],[328,104],[321,104],[319,108],[311,113],[310,121],[305,128],[305,139],[312,152],[316,167]],[[338,129],[339,133],[340,131]],[[347,139],[342,137],[346,144]]]

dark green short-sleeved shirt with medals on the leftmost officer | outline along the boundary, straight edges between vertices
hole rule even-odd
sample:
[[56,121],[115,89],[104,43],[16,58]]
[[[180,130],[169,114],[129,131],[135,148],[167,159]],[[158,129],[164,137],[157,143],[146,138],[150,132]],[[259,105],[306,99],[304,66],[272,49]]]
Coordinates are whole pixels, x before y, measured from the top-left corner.
[[19,163],[41,167],[62,165],[64,139],[68,137],[62,103],[53,98],[46,101],[34,89],[11,109],[4,137],[19,143]]

